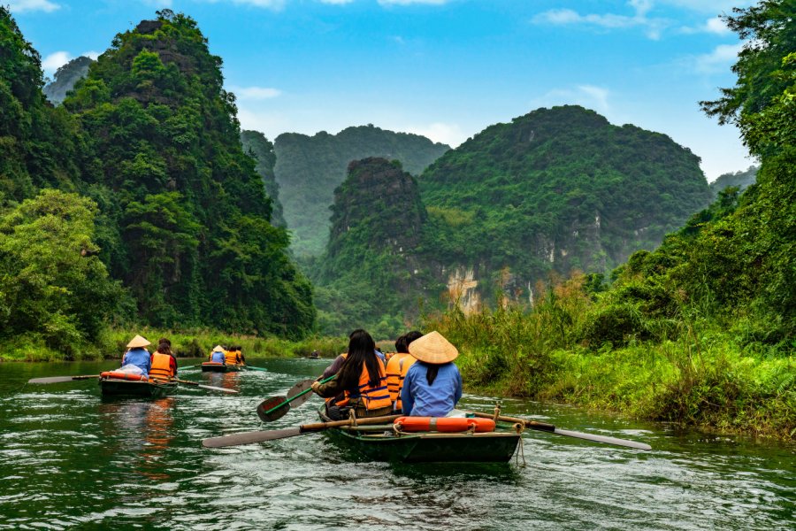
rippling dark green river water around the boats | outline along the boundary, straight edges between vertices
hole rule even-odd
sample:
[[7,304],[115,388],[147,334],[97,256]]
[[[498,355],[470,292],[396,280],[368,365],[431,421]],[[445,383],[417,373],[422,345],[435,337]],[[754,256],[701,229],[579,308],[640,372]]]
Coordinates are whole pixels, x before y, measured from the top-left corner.
[[[193,363],[180,360],[180,365]],[[317,397],[262,424],[256,405],[324,360],[249,360],[268,372],[180,377],[157,400],[103,400],[112,362],[0,364],[3,529],[794,529],[796,449],[561,405],[504,400],[504,414],[651,444],[644,452],[526,432],[526,466],[357,461],[324,435],[204,449],[201,440],[317,421]],[[461,406],[491,411],[494,398]]]

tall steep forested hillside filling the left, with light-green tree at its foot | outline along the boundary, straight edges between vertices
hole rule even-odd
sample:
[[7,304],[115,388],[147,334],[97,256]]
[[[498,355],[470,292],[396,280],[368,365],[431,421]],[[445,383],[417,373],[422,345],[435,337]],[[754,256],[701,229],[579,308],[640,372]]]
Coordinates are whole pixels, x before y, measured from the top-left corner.
[[57,107],[3,6],[0,45],[0,339],[71,356],[111,320],[310,332],[310,282],[193,19],[116,35]]

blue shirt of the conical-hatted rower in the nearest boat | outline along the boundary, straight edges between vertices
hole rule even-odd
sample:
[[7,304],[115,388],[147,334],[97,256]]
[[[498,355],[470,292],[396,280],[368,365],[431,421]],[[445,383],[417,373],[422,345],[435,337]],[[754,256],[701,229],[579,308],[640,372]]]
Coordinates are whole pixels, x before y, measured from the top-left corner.
[[418,361],[409,367],[401,389],[403,413],[412,417],[444,417],[462,397],[462,375],[453,362],[440,366],[432,385],[425,375],[428,365]]

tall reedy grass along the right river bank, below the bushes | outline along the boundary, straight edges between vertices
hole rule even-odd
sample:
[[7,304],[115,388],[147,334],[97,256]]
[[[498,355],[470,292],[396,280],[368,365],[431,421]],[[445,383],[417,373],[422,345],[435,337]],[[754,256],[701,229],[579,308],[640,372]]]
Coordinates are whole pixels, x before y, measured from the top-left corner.
[[689,319],[669,338],[584,341],[594,304],[563,284],[532,311],[506,306],[426,318],[453,342],[465,387],[499,396],[578,404],[723,433],[796,439],[792,345],[749,342],[743,324]]

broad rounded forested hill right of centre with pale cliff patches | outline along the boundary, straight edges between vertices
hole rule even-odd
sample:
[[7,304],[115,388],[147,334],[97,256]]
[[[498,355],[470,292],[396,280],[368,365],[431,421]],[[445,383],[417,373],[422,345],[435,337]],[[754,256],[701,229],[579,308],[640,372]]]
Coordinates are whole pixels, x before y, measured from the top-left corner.
[[[616,127],[579,106],[487,127],[419,178],[436,259],[448,282],[489,292],[555,270],[608,272],[706,206],[700,159],[670,137]],[[499,274],[499,272],[502,272]]]

